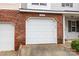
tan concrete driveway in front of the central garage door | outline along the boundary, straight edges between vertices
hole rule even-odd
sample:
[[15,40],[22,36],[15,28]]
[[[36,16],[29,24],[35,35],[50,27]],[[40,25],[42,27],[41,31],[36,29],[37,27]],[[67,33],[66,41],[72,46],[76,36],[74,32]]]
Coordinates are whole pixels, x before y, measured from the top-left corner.
[[22,46],[19,50],[20,56],[76,56],[67,50],[62,44],[32,44]]

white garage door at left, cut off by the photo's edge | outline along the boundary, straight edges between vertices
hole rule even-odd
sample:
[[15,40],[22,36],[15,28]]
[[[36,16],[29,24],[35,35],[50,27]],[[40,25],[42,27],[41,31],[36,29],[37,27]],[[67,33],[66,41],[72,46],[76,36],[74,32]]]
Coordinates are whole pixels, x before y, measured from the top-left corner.
[[14,26],[0,24],[0,51],[14,50]]

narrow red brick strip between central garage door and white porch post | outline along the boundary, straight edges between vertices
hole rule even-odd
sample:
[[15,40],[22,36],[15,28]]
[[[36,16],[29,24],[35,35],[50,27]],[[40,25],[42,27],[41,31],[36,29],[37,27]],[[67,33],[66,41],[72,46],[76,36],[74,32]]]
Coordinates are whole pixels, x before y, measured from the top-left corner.
[[58,44],[63,44],[63,16],[57,16],[57,39]]

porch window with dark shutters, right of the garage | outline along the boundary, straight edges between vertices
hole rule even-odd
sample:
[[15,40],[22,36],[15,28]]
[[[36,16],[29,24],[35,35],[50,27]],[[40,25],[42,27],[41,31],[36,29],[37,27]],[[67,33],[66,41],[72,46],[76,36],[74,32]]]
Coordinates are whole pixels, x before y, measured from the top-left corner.
[[79,21],[68,21],[69,32],[79,32]]

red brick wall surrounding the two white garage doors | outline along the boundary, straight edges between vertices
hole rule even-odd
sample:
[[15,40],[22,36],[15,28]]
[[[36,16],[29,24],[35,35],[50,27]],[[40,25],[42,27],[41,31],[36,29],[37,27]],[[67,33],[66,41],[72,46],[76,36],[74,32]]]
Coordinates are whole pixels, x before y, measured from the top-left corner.
[[[25,45],[25,21],[29,17],[40,17],[40,13],[19,12],[18,10],[0,10],[0,22],[11,22],[15,24],[15,50],[19,45]],[[45,13],[44,13],[45,14]],[[63,43],[63,22],[62,14],[45,14],[45,17],[57,20],[57,43]]]

